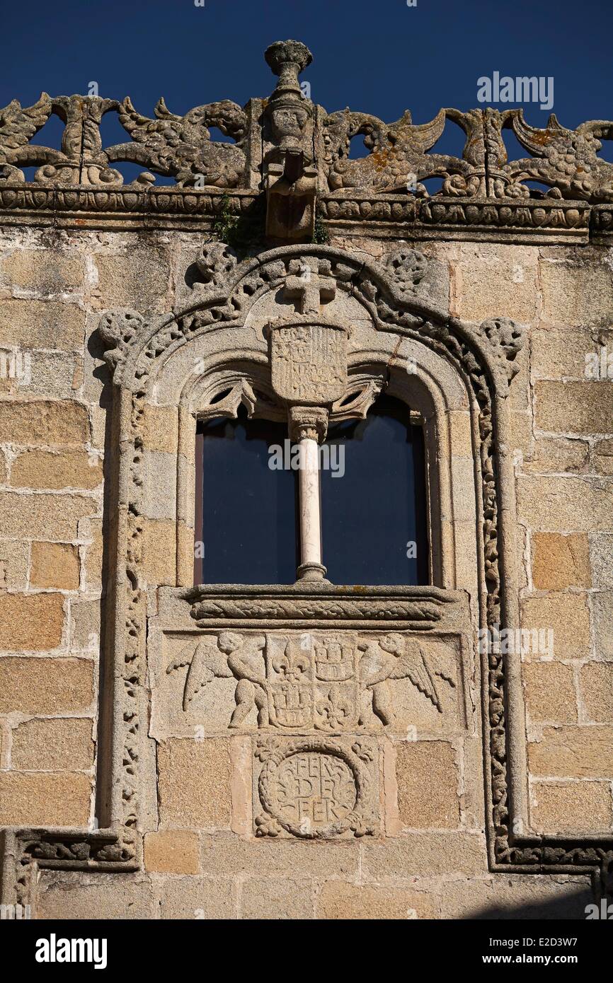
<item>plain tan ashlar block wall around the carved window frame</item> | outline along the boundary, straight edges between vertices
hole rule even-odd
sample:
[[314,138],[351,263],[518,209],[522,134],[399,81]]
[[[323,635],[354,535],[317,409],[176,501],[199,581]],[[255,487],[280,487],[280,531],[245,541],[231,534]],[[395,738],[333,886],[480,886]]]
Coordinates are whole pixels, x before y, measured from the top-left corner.
[[[0,342],[31,356],[30,380],[0,382],[0,826],[93,829],[105,768],[95,756],[111,563],[104,475],[120,448],[92,334],[107,309],[171,310],[201,243],[198,232],[0,233]],[[333,245],[379,260],[393,242],[344,236]],[[613,380],[587,378],[585,356],[613,352],[613,251],[414,245],[448,270],[452,316],[527,328],[509,395],[521,623],[554,631],[553,652],[530,652],[521,665],[529,823],[535,833],[610,836]],[[171,468],[176,453],[167,414],[147,418],[160,483],[164,457]],[[173,519],[153,506],[144,540],[149,583],[174,584]],[[151,588],[148,603],[154,614]],[[474,739],[390,742],[376,838],[255,838],[246,738],[151,740],[146,781],[157,787],[142,869],[43,870],[36,915],[583,917],[588,875],[488,872],[472,682]]]

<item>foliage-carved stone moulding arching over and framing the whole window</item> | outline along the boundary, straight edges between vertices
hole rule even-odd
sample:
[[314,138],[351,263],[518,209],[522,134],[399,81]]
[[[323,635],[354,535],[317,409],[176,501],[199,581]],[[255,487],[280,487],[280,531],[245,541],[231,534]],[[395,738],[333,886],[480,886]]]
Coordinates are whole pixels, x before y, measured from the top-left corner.
[[[5,891],[11,894],[17,889],[20,899],[28,890],[26,881],[33,870],[32,860],[34,866],[35,863],[65,863],[85,869],[107,869],[101,864],[108,863],[116,865],[113,869],[120,870],[134,869],[138,865],[139,833],[151,823],[153,813],[152,751],[141,723],[147,720],[148,702],[147,606],[149,604],[154,610],[156,597],[167,596],[168,604],[178,606],[177,610],[180,608],[182,612],[186,611],[186,606],[193,605],[192,613],[197,620],[199,605],[218,605],[223,601],[216,597],[219,592],[215,590],[210,592],[210,598],[186,594],[184,589],[176,587],[158,595],[148,586],[144,576],[142,461],[146,442],[145,405],[157,385],[157,373],[153,376],[152,371],[155,367],[163,371],[168,355],[178,352],[189,336],[197,338],[210,331],[226,331],[230,351],[239,351],[232,348],[231,336],[234,331],[240,331],[240,327],[232,324],[232,317],[217,322],[213,313],[215,307],[227,310],[227,298],[240,285],[241,279],[244,282],[250,275],[256,281],[251,298],[258,292],[261,294],[274,288],[276,277],[283,275],[278,263],[282,266],[283,258],[299,255],[319,256],[330,261],[337,276],[344,276],[345,284],[350,282],[352,295],[359,294],[360,303],[372,318],[374,330],[382,332],[382,337],[389,334],[396,336],[397,341],[412,339],[416,345],[426,346],[439,358],[456,366],[458,376],[471,393],[472,436],[478,438],[475,442],[480,492],[477,526],[483,535],[478,547],[480,569],[483,570],[479,580],[486,587],[484,591],[481,585],[479,590],[479,623],[499,621],[510,627],[518,624],[514,571],[515,501],[505,439],[508,430],[506,400],[517,344],[512,342],[511,325],[504,319],[490,321],[477,329],[456,318],[446,317],[413,294],[402,295],[390,276],[375,264],[363,263],[349,254],[326,247],[292,247],[271,251],[258,260],[248,260],[236,271],[238,275],[230,273],[225,287],[215,284],[208,296],[206,291],[204,296],[201,294],[199,302],[188,308],[187,314],[156,318],[150,324],[134,313],[105,318],[101,333],[110,346],[108,362],[114,369],[115,383],[112,439],[121,450],[115,455],[117,466],[110,480],[110,501],[115,516],[112,529],[115,573],[107,603],[107,674],[102,687],[102,714],[108,722],[108,760],[111,764],[110,772],[99,776],[104,802],[101,816],[106,830],[100,834],[85,831],[10,833],[8,874],[5,876],[9,888]],[[235,321],[239,320],[235,318]],[[243,348],[243,356],[244,352]],[[250,353],[249,361],[264,366],[266,355],[255,349]],[[364,361],[363,357],[361,361]],[[188,413],[192,416],[182,404],[179,413],[185,418]],[[179,456],[183,449],[184,445],[180,444]],[[443,501],[443,490],[440,496]],[[180,526],[180,512],[178,516]],[[287,589],[288,592],[291,590]],[[303,587],[302,593],[305,591]],[[377,592],[373,593],[376,595]],[[407,590],[407,600],[408,595],[416,597],[418,593],[419,589]],[[293,605],[292,598],[295,598],[295,592],[285,600]],[[306,598],[302,600],[308,610],[311,602]],[[338,600],[331,598],[335,604]],[[231,598],[228,601],[236,604]],[[241,601],[239,607],[242,605]],[[338,617],[337,610],[334,616]],[[310,623],[313,619],[317,623],[316,608],[310,607],[308,618]],[[184,623],[184,613],[181,623]],[[513,657],[490,657],[489,661],[483,660],[482,670],[486,717],[484,751],[488,762],[486,826],[491,869],[521,873],[600,870],[604,877],[613,859],[611,838],[545,838],[521,833],[525,828],[525,770],[519,665]],[[106,760],[104,754],[100,758]],[[104,788],[107,789],[106,796]],[[103,853],[95,845],[100,838],[104,839]],[[69,839],[70,844],[66,845]]]

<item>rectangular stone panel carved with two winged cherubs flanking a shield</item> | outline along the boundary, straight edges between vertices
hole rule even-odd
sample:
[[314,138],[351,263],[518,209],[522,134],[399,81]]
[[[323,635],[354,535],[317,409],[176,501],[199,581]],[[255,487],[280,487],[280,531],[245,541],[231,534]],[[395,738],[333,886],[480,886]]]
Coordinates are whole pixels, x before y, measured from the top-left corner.
[[153,728],[382,732],[465,725],[460,633],[162,632]]

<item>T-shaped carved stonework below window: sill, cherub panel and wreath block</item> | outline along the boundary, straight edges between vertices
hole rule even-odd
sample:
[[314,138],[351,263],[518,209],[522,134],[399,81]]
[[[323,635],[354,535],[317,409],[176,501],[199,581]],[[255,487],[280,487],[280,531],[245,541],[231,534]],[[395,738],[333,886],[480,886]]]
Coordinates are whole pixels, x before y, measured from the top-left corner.
[[247,738],[254,836],[377,836],[385,741],[474,731],[466,596],[387,590],[162,592],[150,733]]

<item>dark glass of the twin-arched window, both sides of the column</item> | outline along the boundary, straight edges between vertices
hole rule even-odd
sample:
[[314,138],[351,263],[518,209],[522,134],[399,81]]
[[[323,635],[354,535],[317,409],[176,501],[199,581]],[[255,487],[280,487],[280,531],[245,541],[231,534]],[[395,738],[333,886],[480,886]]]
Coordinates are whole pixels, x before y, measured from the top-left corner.
[[[330,580],[428,584],[424,436],[409,408],[380,396],[365,420],[329,429],[320,461]],[[235,420],[198,424],[195,583],[294,583],[301,560],[290,462],[286,425],[249,420],[243,406]]]

